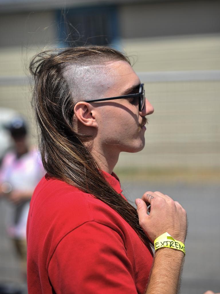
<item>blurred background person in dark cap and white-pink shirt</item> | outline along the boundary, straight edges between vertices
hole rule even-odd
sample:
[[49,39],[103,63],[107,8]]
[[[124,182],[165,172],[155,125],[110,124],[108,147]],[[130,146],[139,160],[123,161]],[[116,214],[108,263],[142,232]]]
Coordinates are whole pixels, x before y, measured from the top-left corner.
[[26,281],[26,224],[29,204],[35,186],[45,174],[40,153],[28,144],[27,126],[22,117],[15,117],[6,126],[13,140],[0,167],[0,195],[11,203],[6,226],[9,237],[20,259]]

